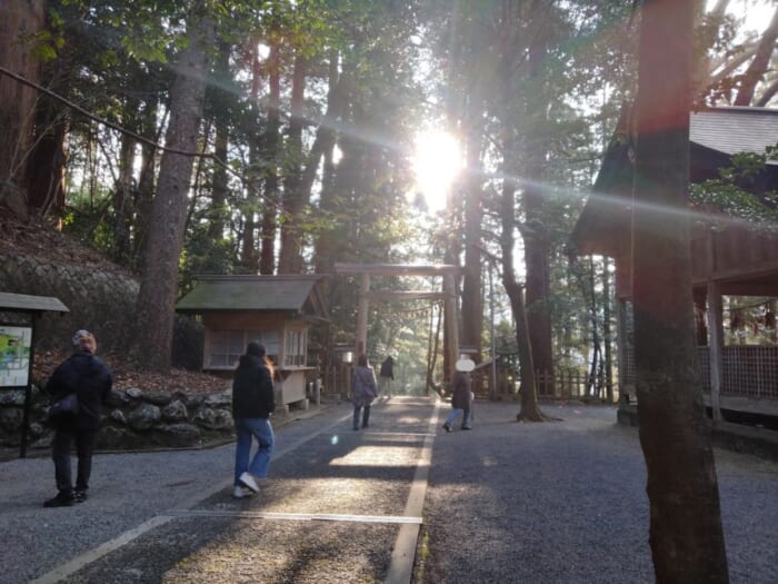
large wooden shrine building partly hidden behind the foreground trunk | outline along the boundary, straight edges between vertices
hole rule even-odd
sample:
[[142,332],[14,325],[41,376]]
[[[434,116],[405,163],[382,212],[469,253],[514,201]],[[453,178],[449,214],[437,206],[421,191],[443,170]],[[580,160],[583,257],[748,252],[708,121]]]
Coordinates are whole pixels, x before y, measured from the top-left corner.
[[[635,367],[631,344],[631,185],[634,151],[626,116],[606,152],[591,196],[575,227],[580,255],[615,258],[618,301],[620,409],[631,407]],[[719,177],[738,152],[764,154],[778,143],[778,110],[724,107],[690,115],[690,180]],[[744,186],[757,197],[778,191],[778,160]],[[767,205],[775,205],[767,201]],[[722,410],[778,416],[778,344],[725,344],[722,297],[778,298],[778,226],[735,221],[710,211],[690,220],[692,293],[696,305],[699,366],[712,417]],[[764,326],[775,330],[775,315]],[[772,336],[775,338],[775,335]],[[726,416],[725,416],[726,417]]]

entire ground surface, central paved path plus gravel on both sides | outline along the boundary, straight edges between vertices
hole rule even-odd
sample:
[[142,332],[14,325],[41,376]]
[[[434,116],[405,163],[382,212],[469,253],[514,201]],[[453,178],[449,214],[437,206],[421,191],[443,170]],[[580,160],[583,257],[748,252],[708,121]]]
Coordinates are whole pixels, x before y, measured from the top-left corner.
[[[0,463],[0,582],[652,582],[637,432],[547,409],[563,422],[479,403],[446,434],[432,400],[383,399],[360,432],[332,405],[277,433],[239,501],[233,445],[98,455],[89,501],[56,509],[49,459]],[[778,582],[778,465],[717,466],[731,581]]]

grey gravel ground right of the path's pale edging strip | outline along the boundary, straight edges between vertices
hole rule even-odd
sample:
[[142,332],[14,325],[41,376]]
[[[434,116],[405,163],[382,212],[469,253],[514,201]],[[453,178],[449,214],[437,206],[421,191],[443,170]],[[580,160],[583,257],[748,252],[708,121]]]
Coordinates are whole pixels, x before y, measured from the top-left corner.
[[[479,403],[472,432],[438,436],[420,581],[654,582],[637,429],[611,407],[547,405],[563,419],[548,424],[511,422],[517,408]],[[775,584],[778,464],[718,449],[716,463],[730,581]]]

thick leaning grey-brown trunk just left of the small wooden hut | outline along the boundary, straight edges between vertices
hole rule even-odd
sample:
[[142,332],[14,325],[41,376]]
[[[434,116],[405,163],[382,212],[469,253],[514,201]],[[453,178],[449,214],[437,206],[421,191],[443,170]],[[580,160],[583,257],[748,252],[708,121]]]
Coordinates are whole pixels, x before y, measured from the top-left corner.
[[[170,92],[170,122],[166,145],[176,150],[194,150],[213,26],[196,11],[188,22],[189,47],[181,53],[179,71]],[[193,159],[166,151],[153,200],[149,245],[138,293],[138,330],[133,356],[152,369],[170,367],[173,316],[178,294],[178,267],[183,247],[188,195]]]

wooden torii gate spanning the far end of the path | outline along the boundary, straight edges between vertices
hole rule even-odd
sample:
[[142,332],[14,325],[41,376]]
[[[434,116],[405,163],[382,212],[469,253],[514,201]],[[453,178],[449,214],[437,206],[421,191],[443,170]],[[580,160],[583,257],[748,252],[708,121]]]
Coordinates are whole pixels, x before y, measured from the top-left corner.
[[[368,340],[368,303],[375,300],[443,300],[443,324],[446,335],[443,343],[445,363],[453,367],[459,358],[459,314],[457,309],[457,287],[455,278],[459,274],[459,266],[449,264],[436,264],[430,266],[413,264],[336,264],[336,274],[359,275],[359,300],[357,313],[357,335],[355,355],[366,352]],[[441,276],[443,278],[442,291],[370,291],[370,276]],[[449,378],[452,372],[449,373]]]

